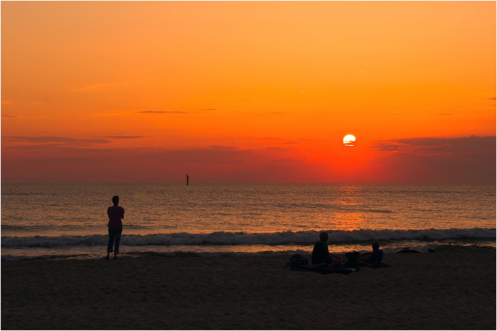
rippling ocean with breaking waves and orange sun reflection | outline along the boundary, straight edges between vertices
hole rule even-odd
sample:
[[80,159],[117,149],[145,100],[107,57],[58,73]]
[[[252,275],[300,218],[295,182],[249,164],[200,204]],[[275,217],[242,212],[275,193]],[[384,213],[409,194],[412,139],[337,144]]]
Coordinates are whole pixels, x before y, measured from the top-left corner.
[[114,195],[123,257],[496,247],[495,185],[3,183],[1,259],[101,258]]

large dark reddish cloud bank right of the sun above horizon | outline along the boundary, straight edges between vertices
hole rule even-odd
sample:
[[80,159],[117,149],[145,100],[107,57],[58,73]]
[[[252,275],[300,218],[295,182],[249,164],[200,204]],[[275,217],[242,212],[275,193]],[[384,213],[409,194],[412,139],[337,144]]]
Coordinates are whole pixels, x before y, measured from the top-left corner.
[[495,136],[394,139],[381,141],[376,148],[390,153],[371,158],[364,166],[383,181],[495,185]]

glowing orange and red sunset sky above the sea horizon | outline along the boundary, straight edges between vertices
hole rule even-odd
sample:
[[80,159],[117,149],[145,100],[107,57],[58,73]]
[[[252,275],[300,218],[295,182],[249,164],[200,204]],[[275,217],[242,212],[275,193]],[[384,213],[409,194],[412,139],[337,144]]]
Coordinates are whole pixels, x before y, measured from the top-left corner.
[[3,1],[1,60],[3,182],[495,183],[495,1]]

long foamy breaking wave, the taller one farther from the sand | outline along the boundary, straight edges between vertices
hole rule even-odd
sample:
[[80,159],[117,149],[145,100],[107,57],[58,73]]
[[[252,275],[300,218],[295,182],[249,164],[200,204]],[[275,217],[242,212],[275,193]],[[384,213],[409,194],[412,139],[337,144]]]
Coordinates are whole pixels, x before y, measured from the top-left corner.
[[[367,241],[389,239],[455,239],[455,238],[496,238],[495,228],[451,228],[451,229],[359,229],[359,230],[328,230],[329,242],[336,241]],[[280,231],[272,233],[247,233],[217,231],[212,233],[156,233],[156,234],[123,234],[121,245],[140,246],[147,244],[284,244],[312,243],[316,241],[317,231]],[[71,246],[87,244],[106,244],[108,237],[102,234],[92,235],[59,235],[59,236],[2,236],[2,247],[16,246]]]

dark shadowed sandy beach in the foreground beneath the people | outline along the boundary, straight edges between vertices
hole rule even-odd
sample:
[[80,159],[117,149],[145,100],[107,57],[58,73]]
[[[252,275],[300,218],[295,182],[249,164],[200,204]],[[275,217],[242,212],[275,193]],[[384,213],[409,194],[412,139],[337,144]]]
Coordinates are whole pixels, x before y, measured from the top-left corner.
[[2,261],[1,329],[496,329],[492,250],[386,254],[391,268],[349,275],[287,261]]

